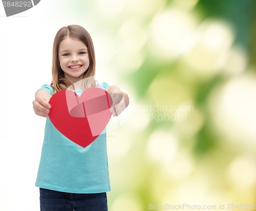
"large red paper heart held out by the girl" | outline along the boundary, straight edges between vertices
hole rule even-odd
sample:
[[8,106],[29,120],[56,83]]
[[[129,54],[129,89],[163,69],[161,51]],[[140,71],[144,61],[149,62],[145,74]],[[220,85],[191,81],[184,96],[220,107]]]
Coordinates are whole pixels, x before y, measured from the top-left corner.
[[80,97],[73,91],[58,91],[49,103],[49,118],[53,125],[84,148],[102,133],[112,115],[110,94],[96,87],[85,90]]

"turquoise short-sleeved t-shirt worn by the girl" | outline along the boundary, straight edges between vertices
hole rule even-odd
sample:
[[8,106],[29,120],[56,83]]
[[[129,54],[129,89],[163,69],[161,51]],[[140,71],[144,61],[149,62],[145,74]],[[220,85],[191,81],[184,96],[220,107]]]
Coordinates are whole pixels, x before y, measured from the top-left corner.
[[[102,83],[98,87],[106,89],[109,85]],[[52,94],[49,85],[40,89]],[[82,94],[82,91],[75,92],[79,96]],[[102,133],[83,148],[63,136],[47,118],[35,186],[68,193],[109,192],[106,134]]]

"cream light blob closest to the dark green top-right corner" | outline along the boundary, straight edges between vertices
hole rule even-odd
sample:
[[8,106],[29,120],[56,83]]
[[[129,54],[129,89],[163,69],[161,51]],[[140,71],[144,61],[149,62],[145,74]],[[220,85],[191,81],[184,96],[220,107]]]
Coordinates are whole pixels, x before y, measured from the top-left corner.
[[200,76],[212,77],[225,64],[234,35],[231,26],[220,20],[204,21],[189,38],[183,61]]

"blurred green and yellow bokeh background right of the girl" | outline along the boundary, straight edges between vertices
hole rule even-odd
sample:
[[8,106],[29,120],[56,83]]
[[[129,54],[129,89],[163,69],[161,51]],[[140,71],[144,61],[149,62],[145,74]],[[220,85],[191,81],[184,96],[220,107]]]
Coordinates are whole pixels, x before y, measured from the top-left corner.
[[130,96],[108,134],[109,209],[251,210],[256,1],[97,0],[68,9],[93,37],[98,77]]

